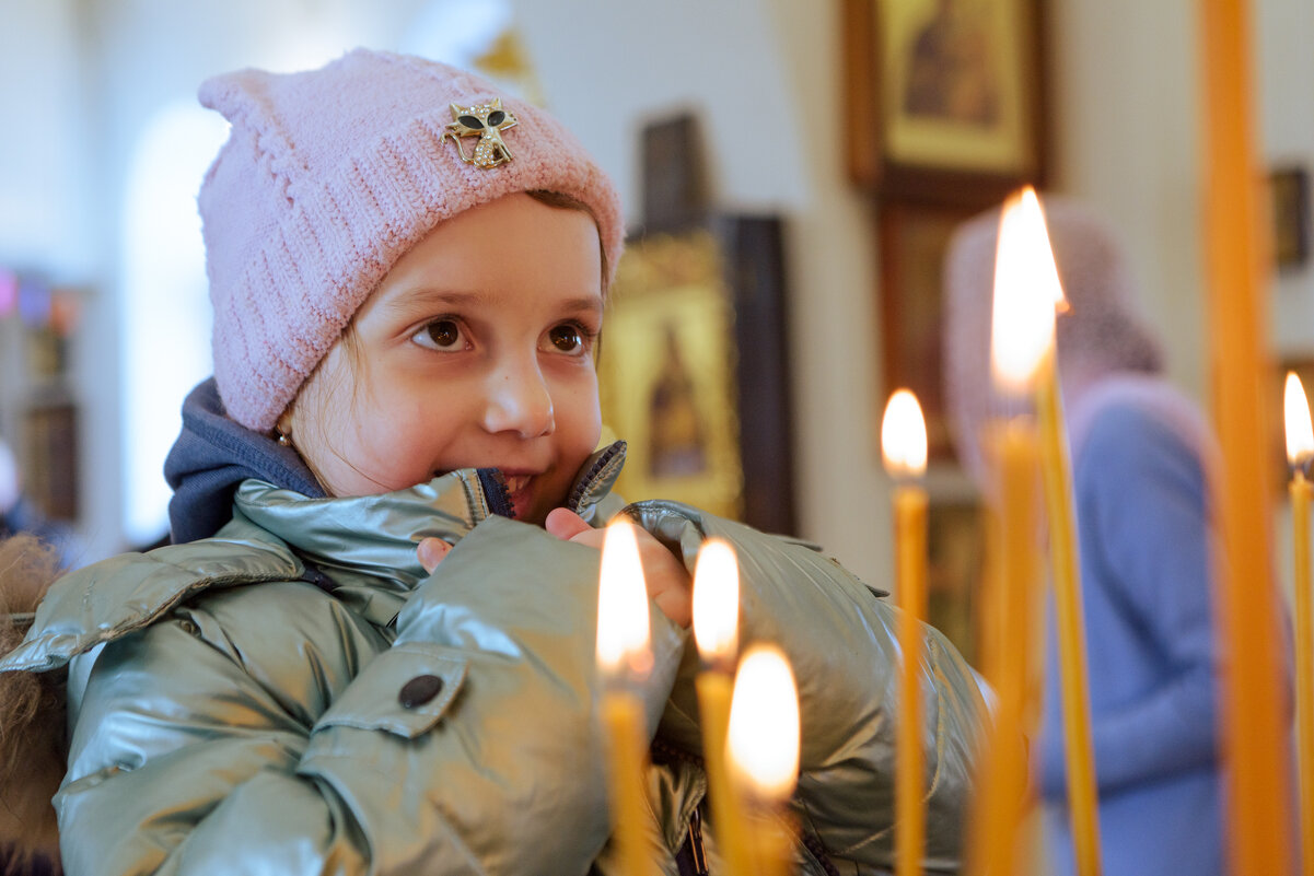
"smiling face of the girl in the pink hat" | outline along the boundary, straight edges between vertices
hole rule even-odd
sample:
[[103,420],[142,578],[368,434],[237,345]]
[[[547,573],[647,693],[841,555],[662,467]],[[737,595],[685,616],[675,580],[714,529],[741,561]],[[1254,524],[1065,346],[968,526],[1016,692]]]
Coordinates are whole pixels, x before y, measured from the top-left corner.
[[332,495],[498,468],[541,524],[598,444],[600,328],[589,214],[498,198],[393,265],[298,394],[292,440]]

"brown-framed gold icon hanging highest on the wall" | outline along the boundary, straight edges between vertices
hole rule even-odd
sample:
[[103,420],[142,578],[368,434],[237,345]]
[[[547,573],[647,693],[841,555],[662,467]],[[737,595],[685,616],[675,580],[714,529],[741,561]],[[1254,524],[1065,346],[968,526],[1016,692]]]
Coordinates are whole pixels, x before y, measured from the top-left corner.
[[846,0],[845,9],[859,183],[974,206],[1043,183],[1037,0]]

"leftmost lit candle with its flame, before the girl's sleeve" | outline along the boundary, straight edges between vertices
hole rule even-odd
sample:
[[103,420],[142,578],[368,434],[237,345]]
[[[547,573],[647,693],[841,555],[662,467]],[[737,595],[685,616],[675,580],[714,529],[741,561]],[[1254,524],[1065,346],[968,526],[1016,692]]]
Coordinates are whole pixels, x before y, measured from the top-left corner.
[[648,588],[629,523],[607,527],[598,584],[598,668],[603,676],[602,722],[607,735],[607,777],[612,835],[625,876],[657,871],[644,841],[648,820],[644,767],[646,733],[633,682],[652,668]]

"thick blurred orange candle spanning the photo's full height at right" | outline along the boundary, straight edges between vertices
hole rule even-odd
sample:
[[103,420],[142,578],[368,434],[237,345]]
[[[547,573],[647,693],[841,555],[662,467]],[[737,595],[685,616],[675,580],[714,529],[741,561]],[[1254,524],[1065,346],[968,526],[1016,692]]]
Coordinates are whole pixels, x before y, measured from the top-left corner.
[[[1246,0],[1202,0],[1205,256],[1214,423],[1222,477],[1214,507],[1226,561],[1215,562],[1227,654],[1223,751],[1229,855],[1235,873],[1290,872],[1286,728],[1279,594],[1268,586],[1272,493],[1264,445],[1267,214],[1255,138],[1252,30]],[[1234,570],[1244,570],[1238,574]]]

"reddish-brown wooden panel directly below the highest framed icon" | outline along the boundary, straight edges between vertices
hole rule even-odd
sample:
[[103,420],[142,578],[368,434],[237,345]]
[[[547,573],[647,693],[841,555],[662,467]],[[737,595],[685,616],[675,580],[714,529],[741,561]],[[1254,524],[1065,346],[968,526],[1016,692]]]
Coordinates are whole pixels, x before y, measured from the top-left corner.
[[974,214],[972,209],[913,204],[880,209],[878,313],[886,380],[880,405],[896,389],[917,395],[930,462],[955,460],[945,411],[942,280],[949,239]]

